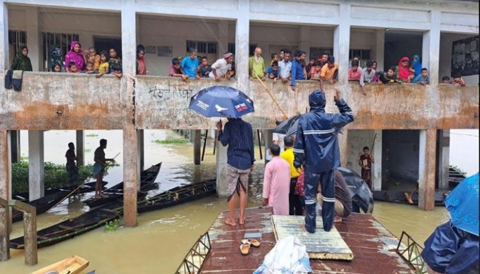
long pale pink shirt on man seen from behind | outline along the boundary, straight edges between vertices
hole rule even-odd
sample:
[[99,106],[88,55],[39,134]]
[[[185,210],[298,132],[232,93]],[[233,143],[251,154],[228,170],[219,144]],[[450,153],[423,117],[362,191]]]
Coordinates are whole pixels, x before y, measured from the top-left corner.
[[290,192],[290,165],[275,156],[265,166],[263,177],[263,198],[268,199],[268,206],[274,208],[274,215],[288,215]]

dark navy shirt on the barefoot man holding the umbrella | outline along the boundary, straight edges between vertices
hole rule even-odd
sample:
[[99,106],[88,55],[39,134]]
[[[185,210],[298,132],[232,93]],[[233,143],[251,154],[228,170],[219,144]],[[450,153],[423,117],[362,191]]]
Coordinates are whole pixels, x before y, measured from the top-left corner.
[[235,169],[250,169],[255,162],[253,151],[253,129],[242,119],[230,119],[224,130],[219,131],[221,145],[228,145],[227,164]]

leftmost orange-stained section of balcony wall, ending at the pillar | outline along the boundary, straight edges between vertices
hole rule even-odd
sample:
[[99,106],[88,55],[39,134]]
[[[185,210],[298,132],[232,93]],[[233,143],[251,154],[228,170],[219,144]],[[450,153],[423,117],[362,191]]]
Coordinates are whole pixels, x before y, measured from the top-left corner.
[[122,129],[120,90],[111,75],[25,72],[21,91],[0,88],[0,128]]

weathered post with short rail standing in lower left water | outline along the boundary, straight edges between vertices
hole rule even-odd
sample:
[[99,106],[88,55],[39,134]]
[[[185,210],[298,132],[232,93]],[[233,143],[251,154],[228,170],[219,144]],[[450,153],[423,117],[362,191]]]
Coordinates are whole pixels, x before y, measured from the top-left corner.
[[8,206],[23,212],[23,234],[25,238],[25,264],[32,266],[38,263],[36,239],[36,208],[17,200],[8,201]]

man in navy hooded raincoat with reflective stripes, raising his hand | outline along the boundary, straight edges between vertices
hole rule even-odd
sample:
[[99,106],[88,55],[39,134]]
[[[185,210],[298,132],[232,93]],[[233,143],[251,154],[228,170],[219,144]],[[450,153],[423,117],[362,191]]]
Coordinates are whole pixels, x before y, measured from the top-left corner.
[[304,229],[315,233],[315,207],[317,187],[322,186],[322,220],[324,230],[330,231],[335,216],[335,168],[340,164],[340,150],[337,134],[341,127],[353,121],[353,112],[340,92],[335,88],[335,104],[340,113],[325,112],[325,93],[313,90],[309,96],[310,112],[303,114],[298,122],[297,138],[293,147],[295,160],[293,166],[305,172],[305,215]]

